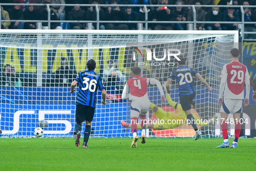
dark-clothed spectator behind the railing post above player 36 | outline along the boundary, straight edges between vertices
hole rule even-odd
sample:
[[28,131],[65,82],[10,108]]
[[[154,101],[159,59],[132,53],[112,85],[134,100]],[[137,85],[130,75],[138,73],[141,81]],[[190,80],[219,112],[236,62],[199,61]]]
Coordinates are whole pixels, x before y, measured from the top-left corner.
[[[97,0],[93,0],[92,4],[98,4]],[[101,10],[101,7],[98,6],[99,9],[99,14],[100,14],[100,21],[105,20],[105,13],[104,10]],[[95,10],[95,6],[91,6],[88,10],[87,10],[87,16],[86,16],[86,20],[91,20],[91,21],[96,21],[97,20],[97,12]],[[97,23],[93,23],[93,29],[97,28]],[[105,26],[103,23],[100,23],[100,30],[104,30]]]

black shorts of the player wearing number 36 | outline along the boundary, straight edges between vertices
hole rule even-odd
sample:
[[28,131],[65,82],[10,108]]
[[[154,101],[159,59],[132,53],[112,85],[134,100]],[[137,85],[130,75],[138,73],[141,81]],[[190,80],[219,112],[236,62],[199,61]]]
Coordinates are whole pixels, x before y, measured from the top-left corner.
[[95,108],[85,105],[76,105],[75,121],[82,123],[85,120],[91,122],[94,116]]

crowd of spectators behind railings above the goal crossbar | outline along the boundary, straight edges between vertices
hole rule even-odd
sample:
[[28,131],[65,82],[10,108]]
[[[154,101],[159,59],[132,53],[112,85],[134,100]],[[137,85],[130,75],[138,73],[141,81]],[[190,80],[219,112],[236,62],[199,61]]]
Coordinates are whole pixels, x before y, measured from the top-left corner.
[[[234,30],[241,19],[240,8],[233,5],[256,5],[255,0],[3,0],[1,3],[20,3],[15,6],[2,6],[2,20],[48,20],[46,6],[34,6],[33,3],[50,4],[51,20],[68,20],[68,26],[60,23],[51,23],[50,29],[87,29],[86,23],[76,21],[96,21],[95,6],[80,6],[79,4],[105,4],[98,6],[100,21],[145,21],[145,10],[148,12],[148,21],[193,21],[193,11],[182,5],[230,5],[224,7],[195,7],[196,20],[216,23],[197,23],[198,30]],[[23,5],[29,3],[29,5]],[[54,4],[77,4],[76,6],[55,6]],[[117,4],[146,4],[162,5],[159,7],[124,7],[111,6]],[[167,7],[166,5],[181,5]],[[233,24],[218,22],[229,21]],[[244,7],[244,21],[256,22],[256,8]],[[63,23],[63,22],[62,22]],[[2,22],[2,29],[36,29],[36,22]],[[93,29],[96,23],[93,23]],[[48,23],[42,23],[42,29],[48,29]],[[100,29],[136,29],[136,23],[100,23]],[[145,26],[144,26],[145,29]],[[155,30],[185,30],[185,23],[149,23],[148,29]],[[244,31],[255,32],[255,24],[245,24]],[[245,35],[245,39],[249,38]],[[256,39],[256,36],[250,36]]]

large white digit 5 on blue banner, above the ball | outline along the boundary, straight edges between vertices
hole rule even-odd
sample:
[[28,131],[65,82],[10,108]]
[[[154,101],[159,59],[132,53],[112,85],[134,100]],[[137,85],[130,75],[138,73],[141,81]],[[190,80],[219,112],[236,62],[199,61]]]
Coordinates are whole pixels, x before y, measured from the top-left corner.
[[[71,110],[39,110],[38,111],[38,119],[39,120],[45,120],[45,114],[71,114]],[[48,123],[61,123],[65,124],[66,128],[65,130],[59,130],[59,131],[44,131],[44,134],[68,134],[71,129],[72,125],[68,120],[45,120]]]

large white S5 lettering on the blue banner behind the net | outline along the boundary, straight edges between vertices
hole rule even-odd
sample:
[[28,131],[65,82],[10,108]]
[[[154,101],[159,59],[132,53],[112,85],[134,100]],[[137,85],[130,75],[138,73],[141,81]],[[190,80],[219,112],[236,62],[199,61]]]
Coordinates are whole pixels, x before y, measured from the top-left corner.
[[[71,114],[71,110],[39,110],[39,120],[45,120],[45,114]],[[2,130],[2,134],[16,134],[19,132],[19,118],[22,114],[36,114],[35,110],[18,110],[13,115],[13,130]],[[44,134],[68,134],[71,132],[72,125],[68,120],[46,120],[48,123],[65,124],[65,130],[47,131]]]

